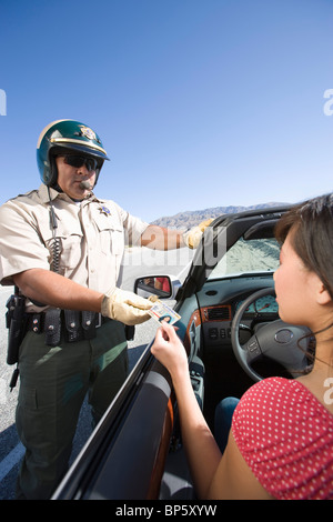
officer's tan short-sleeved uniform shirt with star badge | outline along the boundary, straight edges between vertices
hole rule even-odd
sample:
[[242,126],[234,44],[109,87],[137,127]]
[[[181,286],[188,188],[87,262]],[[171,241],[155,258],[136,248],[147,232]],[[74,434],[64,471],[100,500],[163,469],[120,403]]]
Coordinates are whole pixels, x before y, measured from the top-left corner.
[[[94,194],[80,203],[50,189],[57,215],[59,273],[99,292],[118,283],[124,245],[139,243],[149,223],[132,217],[113,201]],[[0,282],[28,269],[53,265],[53,231],[48,189],[41,184],[0,208]]]

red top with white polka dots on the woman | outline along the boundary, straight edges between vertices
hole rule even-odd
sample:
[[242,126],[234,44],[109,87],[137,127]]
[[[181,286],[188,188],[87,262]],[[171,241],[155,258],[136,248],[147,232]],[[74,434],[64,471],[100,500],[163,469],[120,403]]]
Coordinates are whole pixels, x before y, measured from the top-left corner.
[[234,411],[232,433],[275,499],[333,499],[333,415],[301,382],[254,384]]

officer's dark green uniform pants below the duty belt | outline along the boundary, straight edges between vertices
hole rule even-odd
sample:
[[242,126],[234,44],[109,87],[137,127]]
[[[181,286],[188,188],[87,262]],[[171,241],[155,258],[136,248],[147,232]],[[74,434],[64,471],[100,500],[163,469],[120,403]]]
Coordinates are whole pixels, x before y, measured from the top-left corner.
[[128,375],[124,327],[109,321],[90,341],[46,345],[28,332],[20,347],[17,429],[26,446],[17,496],[49,499],[68,468],[87,392],[97,423]]

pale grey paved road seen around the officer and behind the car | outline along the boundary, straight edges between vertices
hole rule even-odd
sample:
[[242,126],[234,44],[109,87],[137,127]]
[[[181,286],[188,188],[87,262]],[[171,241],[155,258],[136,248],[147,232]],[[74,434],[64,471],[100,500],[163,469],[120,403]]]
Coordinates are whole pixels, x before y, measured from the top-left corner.
[[[188,249],[171,252],[129,249],[124,258],[122,288],[132,290],[137,277],[157,273],[178,275],[183,281],[191,258],[192,253]],[[6,363],[8,332],[4,325],[4,313],[6,302],[11,292],[12,288],[0,287],[0,500],[14,498],[16,478],[23,454],[23,446],[18,439],[14,426],[19,384],[12,392],[9,391],[8,384],[13,368]],[[135,338],[129,342],[131,367],[135,364],[135,361],[147,348],[147,343],[153,338],[155,330],[157,323],[153,320],[135,328]],[[90,409],[88,403],[84,402],[73,443],[72,460],[82,448],[90,432]]]

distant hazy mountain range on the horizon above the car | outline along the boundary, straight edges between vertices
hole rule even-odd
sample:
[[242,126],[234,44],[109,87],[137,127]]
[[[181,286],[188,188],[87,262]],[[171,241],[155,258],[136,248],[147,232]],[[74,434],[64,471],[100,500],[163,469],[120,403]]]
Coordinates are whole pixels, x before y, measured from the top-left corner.
[[283,207],[287,203],[262,203],[262,204],[253,204],[251,207],[236,207],[236,205],[229,205],[229,207],[214,207],[211,209],[204,210],[186,210],[184,212],[179,212],[174,215],[165,215],[163,218],[159,218],[153,221],[152,224],[158,224],[160,227],[167,228],[190,228],[195,227],[201,221],[204,221],[209,218],[218,218],[218,215],[222,214],[230,214],[235,212],[243,212],[245,210],[255,210],[255,209],[268,209],[271,207]]

